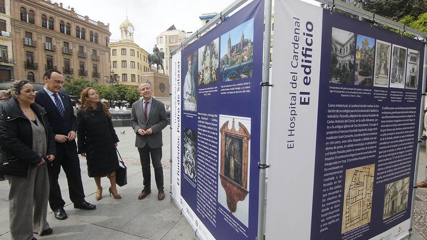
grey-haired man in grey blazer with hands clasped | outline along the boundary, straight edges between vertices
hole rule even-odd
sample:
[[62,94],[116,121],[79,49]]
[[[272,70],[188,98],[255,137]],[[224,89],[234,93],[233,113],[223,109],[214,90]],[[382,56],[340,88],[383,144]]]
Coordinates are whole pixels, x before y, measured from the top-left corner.
[[157,198],[163,200],[162,129],[167,126],[168,120],[164,104],[151,97],[152,93],[149,83],[141,83],[139,94],[142,98],[132,104],[131,126],[136,133],[135,146],[138,148],[144,178],[144,189],[138,199],[143,199],[151,193],[151,155],[154,177],[159,190]]

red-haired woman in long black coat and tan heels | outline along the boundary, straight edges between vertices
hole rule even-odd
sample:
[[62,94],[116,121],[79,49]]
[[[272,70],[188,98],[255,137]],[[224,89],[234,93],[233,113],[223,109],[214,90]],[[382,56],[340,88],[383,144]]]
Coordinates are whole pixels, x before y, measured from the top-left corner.
[[98,201],[102,198],[102,176],[108,176],[110,179],[110,195],[121,198],[117,193],[115,181],[115,171],[119,167],[115,147],[119,140],[110,112],[100,102],[97,91],[91,87],[82,91],[80,99],[82,105],[77,112],[77,146],[79,153],[86,157],[88,175],[95,179],[95,199]]

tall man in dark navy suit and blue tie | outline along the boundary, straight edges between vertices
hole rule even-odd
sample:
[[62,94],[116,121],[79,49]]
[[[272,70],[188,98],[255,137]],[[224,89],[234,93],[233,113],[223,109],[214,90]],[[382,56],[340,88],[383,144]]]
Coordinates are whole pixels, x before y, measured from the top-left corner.
[[55,212],[55,218],[64,220],[67,218],[64,210],[65,201],[62,199],[58,184],[61,166],[66,174],[68,191],[74,208],[93,210],[96,206],[84,200],[80,160],[74,140],[76,138],[77,119],[71,106],[70,97],[65,93],[60,93],[62,84],[64,84],[64,77],[57,70],[48,70],[43,79],[45,86],[37,92],[35,102],[48,113],[49,123],[55,134],[57,149],[55,161],[48,164],[49,204],[52,211]]

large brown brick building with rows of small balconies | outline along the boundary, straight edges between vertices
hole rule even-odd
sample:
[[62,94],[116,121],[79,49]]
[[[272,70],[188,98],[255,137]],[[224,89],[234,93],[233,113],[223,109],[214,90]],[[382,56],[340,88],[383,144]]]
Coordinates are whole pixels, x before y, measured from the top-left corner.
[[110,72],[109,24],[50,0],[11,3],[15,79],[43,82],[46,70],[57,69],[66,80],[105,84],[103,76]]

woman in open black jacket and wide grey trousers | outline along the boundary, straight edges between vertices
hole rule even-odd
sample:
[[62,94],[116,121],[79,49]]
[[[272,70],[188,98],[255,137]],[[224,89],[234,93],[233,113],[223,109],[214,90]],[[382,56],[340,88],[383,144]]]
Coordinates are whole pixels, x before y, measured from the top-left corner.
[[56,146],[46,111],[34,103],[34,87],[16,80],[13,98],[0,107],[0,173],[9,181],[9,221],[12,240],[36,240],[52,233],[47,222],[49,176],[47,164]]

